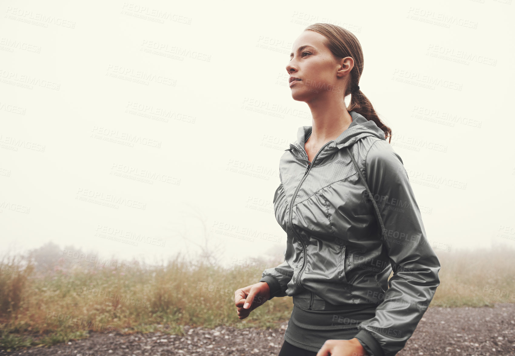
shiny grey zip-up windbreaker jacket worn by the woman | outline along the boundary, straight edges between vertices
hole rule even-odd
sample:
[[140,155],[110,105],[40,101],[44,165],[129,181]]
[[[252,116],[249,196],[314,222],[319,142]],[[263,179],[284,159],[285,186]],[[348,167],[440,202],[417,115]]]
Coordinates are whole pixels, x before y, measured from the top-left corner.
[[401,157],[375,122],[350,115],[349,128],[313,162],[304,149],[311,126],[300,127],[281,156],[273,206],[286,232],[285,261],[260,281],[271,298],[291,296],[299,308],[377,306],[355,337],[370,356],[392,356],[433,299],[440,262]]

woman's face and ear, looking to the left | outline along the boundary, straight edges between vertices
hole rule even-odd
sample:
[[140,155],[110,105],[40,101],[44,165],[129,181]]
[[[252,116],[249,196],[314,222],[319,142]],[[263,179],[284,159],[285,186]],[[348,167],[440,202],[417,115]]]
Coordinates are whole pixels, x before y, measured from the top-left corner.
[[[290,75],[291,97],[310,101],[320,95],[344,96],[354,60],[346,57],[336,61],[318,32],[306,30],[295,40],[286,70]],[[298,78],[300,81],[292,78]]]

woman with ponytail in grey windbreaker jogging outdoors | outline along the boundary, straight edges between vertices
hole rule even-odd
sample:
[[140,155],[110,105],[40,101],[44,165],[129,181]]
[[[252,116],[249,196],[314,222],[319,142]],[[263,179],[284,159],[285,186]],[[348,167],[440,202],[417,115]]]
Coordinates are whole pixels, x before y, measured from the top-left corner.
[[280,356],[392,356],[433,299],[440,263],[391,130],[359,89],[359,41],[317,23],[293,48],[291,96],[310,106],[313,126],[298,129],[279,164],[285,261],[235,292],[237,314],[292,296]]

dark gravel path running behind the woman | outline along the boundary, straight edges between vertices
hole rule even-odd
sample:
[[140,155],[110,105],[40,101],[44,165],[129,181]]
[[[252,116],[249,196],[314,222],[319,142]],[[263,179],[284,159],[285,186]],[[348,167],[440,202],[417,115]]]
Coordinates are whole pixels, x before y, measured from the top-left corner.
[[[277,356],[288,323],[276,330],[220,326],[215,329],[184,327],[186,335],[160,332],[121,335],[90,334],[88,339],[32,347],[0,355],[266,355]],[[494,308],[430,308],[398,356],[515,356],[515,304]]]

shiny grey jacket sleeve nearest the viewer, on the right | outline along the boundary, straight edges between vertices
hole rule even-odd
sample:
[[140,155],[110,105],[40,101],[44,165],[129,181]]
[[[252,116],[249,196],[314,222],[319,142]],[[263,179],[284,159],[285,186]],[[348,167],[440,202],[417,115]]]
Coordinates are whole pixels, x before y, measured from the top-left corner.
[[369,149],[364,176],[384,223],[386,236],[377,238],[386,245],[393,276],[375,316],[358,325],[355,337],[370,356],[393,356],[431,303],[440,284],[440,262],[427,241],[402,159],[386,140]]

